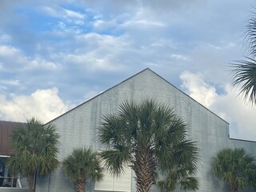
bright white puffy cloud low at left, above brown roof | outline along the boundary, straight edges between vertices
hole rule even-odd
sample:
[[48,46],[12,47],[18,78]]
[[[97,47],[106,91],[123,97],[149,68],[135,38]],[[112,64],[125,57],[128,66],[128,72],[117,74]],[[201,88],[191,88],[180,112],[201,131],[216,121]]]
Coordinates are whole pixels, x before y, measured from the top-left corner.
[[48,122],[68,110],[55,87],[36,90],[30,95],[13,95],[11,99],[0,95],[0,105],[0,117],[17,122],[26,122],[31,117]]

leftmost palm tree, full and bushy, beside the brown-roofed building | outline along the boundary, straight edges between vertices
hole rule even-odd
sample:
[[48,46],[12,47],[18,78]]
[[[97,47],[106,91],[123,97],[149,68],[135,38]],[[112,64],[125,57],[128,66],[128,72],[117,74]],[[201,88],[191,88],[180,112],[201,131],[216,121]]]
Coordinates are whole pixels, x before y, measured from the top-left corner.
[[14,154],[7,160],[6,166],[11,174],[28,177],[29,191],[33,191],[36,174],[50,174],[58,167],[58,138],[53,125],[43,125],[30,118],[14,130],[10,146]]

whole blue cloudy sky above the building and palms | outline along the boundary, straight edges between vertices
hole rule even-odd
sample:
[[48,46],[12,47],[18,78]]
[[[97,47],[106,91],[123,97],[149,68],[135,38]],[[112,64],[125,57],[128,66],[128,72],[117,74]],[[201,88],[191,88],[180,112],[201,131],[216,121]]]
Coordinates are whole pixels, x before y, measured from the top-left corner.
[[47,122],[149,67],[256,140],[230,88],[253,0],[1,0],[0,120]]

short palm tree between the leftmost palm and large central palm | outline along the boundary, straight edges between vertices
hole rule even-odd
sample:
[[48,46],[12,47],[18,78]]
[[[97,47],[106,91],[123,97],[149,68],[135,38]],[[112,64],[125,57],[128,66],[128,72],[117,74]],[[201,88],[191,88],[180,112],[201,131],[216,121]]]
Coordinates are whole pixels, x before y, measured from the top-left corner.
[[88,180],[101,181],[103,168],[97,153],[89,149],[74,149],[62,162],[66,176],[76,182],[78,192],[86,191]]

